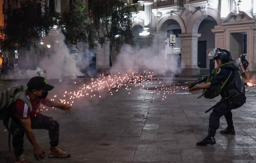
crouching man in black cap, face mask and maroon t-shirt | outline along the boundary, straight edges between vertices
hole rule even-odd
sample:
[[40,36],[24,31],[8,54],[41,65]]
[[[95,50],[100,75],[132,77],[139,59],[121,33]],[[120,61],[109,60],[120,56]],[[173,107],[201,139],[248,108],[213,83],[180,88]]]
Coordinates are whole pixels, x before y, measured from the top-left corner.
[[[39,160],[45,157],[44,150],[37,143],[36,137],[32,129],[45,129],[49,131],[50,138],[50,151],[48,157],[69,157],[70,154],[63,152],[58,147],[59,144],[59,123],[52,117],[45,116],[37,109],[40,104],[45,106],[59,108],[67,113],[71,112],[71,107],[62,103],[55,103],[47,98],[48,91],[54,87],[49,85],[46,79],[41,76],[31,78],[27,84],[27,90],[23,99],[18,99],[14,104],[10,117],[4,119],[4,126],[11,132],[13,136],[12,145],[14,148],[14,154],[16,157],[15,163],[27,163],[23,155],[23,137],[26,134],[29,142],[34,149],[34,157]],[[30,108],[29,106],[32,106]]]

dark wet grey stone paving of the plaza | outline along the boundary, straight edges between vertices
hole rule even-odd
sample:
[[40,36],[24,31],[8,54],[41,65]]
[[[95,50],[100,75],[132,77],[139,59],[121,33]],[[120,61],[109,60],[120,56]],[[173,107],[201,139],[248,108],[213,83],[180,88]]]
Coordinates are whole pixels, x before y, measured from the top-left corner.
[[[3,83],[0,88],[6,87],[6,83]],[[49,97],[62,95],[66,89],[78,87],[56,85]],[[236,135],[220,134],[220,129],[226,127],[223,117],[216,133],[216,145],[196,146],[196,142],[207,134],[210,113],[204,111],[220,99],[196,99],[200,93],[169,95],[163,101],[161,95],[134,87],[131,94],[120,89],[113,96],[103,95],[100,99],[80,98],[75,101],[71,114],[61,110],[44,112],[60,122],[59,145],[70,152],[71,157],[45,157],[44,160],[36,161],[26,137],[24,154],[33,163],[256,162],[255,93],[248,92],[246,104],[232,111]],[[15,160],[12,152],[8,151],[8,131],[5,130],[0,123],[0,162],[11,163]],[[34,132],[39,144],[47,151],[48,132]]]

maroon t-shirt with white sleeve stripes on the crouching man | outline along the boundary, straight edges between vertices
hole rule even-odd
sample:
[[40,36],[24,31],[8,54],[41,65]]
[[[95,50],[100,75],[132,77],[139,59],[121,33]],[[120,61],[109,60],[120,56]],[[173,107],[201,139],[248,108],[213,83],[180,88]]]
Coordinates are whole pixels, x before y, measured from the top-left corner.
[[[28,99],[30,100],[30,97],[28,96],[28,94],[26,93]],[[19,119],[28,119],[32,116],[35,116],[37,109],[39,108],[40,104],[43,103],[47,98],[44,99],[39,99],[38,103],[33,104],[31,102],[31,104],[33,105],[32,110],[29,108],[29,106],[24,103],[22,100],[18,99],[12,108],[12,113],[18,117]]]

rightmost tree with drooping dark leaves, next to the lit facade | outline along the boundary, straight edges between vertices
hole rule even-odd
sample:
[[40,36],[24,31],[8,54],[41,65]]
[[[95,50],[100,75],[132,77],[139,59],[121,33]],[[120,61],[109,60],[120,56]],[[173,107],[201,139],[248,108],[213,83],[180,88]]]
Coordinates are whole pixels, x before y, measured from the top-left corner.
[[[121,0],[97,0],[92,1],[89,11],[90,28],[95,30],[95,36],[101,46],[109,41],[113,63],[113,47],[119,52],[123,44],[134,44],[132,12],[137,12],[137,8]],[[89,40],[92,41],[94,40]]]

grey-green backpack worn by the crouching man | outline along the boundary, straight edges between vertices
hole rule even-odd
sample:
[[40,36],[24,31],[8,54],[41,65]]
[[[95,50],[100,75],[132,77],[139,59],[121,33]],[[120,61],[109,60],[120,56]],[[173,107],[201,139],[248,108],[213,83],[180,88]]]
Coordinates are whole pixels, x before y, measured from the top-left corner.
[[11,87],[0,93],[0,120],[10,117],[11,106],[18,99],[26,103],[29,108],[33,108],[30,100],[26,96],[27,87],[22,85]]

